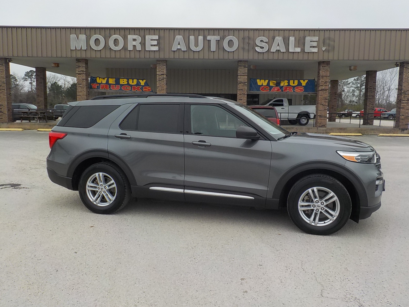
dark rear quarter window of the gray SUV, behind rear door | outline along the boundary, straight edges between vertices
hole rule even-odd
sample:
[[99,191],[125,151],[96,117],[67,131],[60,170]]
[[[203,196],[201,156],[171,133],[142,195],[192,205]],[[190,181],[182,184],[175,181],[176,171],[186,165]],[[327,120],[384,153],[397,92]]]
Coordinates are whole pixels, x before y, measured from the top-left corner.
[[65,127],[89,128],[119,106],[80,106],[65,122]]

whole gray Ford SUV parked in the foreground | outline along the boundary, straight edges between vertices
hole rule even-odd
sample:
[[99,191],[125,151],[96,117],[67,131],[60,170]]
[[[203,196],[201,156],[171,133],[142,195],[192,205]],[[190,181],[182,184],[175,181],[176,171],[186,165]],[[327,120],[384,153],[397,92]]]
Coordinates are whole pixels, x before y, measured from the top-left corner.
[[328,235],[381,205],[380,156],[347,138],[290,133],[238,102],[109,95],[71,102],[49,134],[49,178],[92,212],[131,197],[287,208]]

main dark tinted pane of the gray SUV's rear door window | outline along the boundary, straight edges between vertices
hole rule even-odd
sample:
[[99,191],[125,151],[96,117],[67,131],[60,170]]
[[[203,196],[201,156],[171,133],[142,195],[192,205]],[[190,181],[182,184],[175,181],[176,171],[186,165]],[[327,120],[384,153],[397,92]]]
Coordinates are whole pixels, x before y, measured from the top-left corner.
[[141,104],[138,131],[178,133],[178,104]]

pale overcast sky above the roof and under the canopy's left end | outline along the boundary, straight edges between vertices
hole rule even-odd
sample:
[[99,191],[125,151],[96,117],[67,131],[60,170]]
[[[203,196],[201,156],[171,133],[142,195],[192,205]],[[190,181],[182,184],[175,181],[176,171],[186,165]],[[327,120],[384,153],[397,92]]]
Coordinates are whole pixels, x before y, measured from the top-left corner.
[[[15,26],[409,28],[408,0],[19,0],[1,6],[0,23]],[[11,64],[12,72],[26,70]]]

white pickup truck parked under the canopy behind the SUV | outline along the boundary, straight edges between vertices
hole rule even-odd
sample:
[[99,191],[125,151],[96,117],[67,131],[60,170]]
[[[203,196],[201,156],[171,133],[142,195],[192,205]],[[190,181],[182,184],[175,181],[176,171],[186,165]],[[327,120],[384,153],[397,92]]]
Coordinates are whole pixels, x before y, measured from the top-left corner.
[[292,99],[273,98],[267,99],[261,106],[274,106],[279,113],[280,120],[288,120],[292,125],[305,126],[311,118],[315,117],[315,106],[292,106]]

